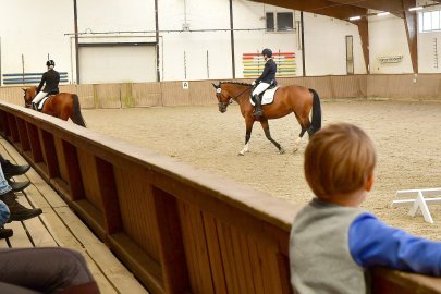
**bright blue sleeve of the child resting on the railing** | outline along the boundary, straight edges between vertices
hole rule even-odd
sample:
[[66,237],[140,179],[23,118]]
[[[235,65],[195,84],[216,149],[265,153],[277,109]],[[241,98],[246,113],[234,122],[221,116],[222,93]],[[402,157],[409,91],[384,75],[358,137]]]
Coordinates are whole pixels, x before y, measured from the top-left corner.
[[362,213],[350,226],[348,245],[358,266],[389,267],[441,275],[441,243],[391,228],[370,213]]

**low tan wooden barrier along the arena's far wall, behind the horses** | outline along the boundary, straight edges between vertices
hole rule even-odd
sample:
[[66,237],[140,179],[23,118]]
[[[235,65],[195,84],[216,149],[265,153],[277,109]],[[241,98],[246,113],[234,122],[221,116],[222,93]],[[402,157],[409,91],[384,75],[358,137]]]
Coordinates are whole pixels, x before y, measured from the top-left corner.
[[[235,79],[250,83],[252,79]],[[278,78],[279,84],[299,85],[317,90],[321,99],[332,98],[392,98],[441,100],[441,75],[345,75]],[[225,82],[225,81],[224,81]],[[191,81],[183,89],[182,82],[61,85],[61,91],[78,95],[82,108],[131,108],[163,106],[204,106],[217,103],[211,83]],[[7,102],[24,105],[22,87],[0,87]]]

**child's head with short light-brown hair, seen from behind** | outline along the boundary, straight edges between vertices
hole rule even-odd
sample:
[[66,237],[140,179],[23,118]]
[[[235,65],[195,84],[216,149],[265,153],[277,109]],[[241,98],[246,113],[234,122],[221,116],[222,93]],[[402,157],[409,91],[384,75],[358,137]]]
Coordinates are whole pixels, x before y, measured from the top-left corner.
[[310,137],[305,150],[305,177],[322,200],[362,189],[373,174],[373,144],[348,123],[328,125]]

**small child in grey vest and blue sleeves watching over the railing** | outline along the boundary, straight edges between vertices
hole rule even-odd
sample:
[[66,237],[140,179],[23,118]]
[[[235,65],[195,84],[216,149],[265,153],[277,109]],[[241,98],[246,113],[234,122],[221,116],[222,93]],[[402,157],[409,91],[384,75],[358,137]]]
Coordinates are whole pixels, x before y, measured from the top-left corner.
[[316,198],[291,231],[296,293],[368,293],[367,268],[441,275],[441,243],[393,229],[358,206],[373,185],[376,152],[364,131],[331,124],[305,150],[305,177]]

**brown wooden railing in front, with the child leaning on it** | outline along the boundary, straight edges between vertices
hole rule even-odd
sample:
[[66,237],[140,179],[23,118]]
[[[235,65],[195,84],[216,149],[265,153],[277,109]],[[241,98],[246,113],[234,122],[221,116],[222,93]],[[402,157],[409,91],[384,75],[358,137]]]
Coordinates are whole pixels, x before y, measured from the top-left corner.
[[[5,102],[0,132],[151,293],[292,293],[299,207]],[[441,293],[438,279],[373,274],[375,293]]]

